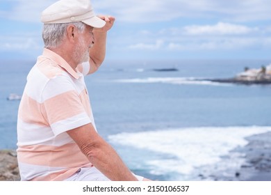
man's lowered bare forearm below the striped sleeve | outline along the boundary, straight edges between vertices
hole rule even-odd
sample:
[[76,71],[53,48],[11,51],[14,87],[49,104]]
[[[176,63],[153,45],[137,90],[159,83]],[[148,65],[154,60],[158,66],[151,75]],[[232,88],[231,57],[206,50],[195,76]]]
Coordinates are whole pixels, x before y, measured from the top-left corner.
[[67,131],[90,162],[110,180],[136,181],[115,150],[102,139],[91,123]]

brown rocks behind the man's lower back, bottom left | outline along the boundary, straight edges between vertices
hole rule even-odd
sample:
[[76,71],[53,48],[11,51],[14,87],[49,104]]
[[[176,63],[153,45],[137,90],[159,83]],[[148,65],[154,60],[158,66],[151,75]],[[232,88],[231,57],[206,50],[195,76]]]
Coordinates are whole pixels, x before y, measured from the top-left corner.
[[0,181],[20,180],[15,150],[0,150]]

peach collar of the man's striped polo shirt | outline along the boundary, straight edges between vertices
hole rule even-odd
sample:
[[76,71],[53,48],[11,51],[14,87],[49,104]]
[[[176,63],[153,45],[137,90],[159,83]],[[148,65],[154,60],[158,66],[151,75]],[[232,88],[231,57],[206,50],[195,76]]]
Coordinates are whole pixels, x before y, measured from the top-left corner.
[[61,56],[59,56],[55,52],[51,51],[50,49],[44,48],[42,55],[46,57],[47,59],[50,59],[56,62],[60,67],[64,68],[69,73],[69,75],[72,75],[74,79],[79,79],[81,74],[79,75],[79,72],[74,71],[74,69],[72,69],[69,63],[67,63],[65,59],[63,59]]

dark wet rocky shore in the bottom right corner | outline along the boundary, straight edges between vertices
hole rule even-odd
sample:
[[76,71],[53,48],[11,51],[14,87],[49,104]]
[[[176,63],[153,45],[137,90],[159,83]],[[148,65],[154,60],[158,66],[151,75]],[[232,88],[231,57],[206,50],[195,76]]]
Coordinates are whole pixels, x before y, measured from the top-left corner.
[[230,170],[224,176],[217,171],[212,176],[204,177],[224,181],[271,181],[271,132],[255,134],[246,139],[246,146],[231,151],[245,159],[238,169]]

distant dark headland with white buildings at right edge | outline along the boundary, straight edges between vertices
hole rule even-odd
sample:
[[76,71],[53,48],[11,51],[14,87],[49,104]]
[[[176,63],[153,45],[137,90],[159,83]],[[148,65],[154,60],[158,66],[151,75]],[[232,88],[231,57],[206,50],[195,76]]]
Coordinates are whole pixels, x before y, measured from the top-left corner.
[[228,79],[204,79],[205,81],[213,81],[219,83],[233,84],[271,84],[271,64],[262,66],[259,69],[245,68],[244,72],[240,72],[236,77]]

